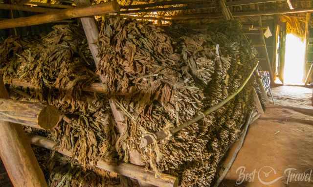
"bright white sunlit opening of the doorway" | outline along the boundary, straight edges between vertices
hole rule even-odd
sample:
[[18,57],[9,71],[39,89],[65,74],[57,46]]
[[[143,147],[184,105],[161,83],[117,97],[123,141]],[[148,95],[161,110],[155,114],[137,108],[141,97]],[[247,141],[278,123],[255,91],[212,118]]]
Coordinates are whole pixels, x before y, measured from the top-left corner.
[[292,34],[286,36],[284,84],[303,84],[305,42]]

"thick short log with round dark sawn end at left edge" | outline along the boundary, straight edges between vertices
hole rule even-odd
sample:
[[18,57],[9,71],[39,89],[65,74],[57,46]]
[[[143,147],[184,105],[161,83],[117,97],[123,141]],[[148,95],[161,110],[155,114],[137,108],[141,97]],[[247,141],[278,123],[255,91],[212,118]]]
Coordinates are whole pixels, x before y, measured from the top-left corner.
[[37,129],[52,129],[59,121],[58,109],[42,103],[0,99],[0,120]]

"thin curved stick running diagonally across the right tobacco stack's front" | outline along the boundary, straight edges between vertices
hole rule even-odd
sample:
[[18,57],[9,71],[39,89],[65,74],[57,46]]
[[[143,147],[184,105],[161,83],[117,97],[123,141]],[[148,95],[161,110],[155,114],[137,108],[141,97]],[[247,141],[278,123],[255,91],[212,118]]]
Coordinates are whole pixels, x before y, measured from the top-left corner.
[[[207,110],[205,110],[203,112],[202,115],[198,115],[194,118],[192,118],[190,121],[187,121],[181,125],[179,125],[178,127],[171,129],[170,132],[172,134],[188,127],[189,125],[196,123],[197,121],[201,120],[204,118],[204,116],[220,109],[221,107],[223,107],[228,101],[230,101],[231,99],[233,99],[238,93],[240,93],[242,91],[242,89],[246,86],[246,83],[250,80],[251,76],[253,75],[254,71],[256,70],[256,68],[258,67],[258,63],[256,64],[256,66],[253,68],[252,72],[250,73],[250,75],[248,75],[248,77],[246,78],[246,80],[243,82],[243,84],[238,88],[238,90],[235,93],[232,93],[231,95],[229,95],[226,99],[224,99],[223,101],[221,101],[219,104],[208,108]],[[157,131],[154,133],[155,137],[156,137],[156,141],[162,140],[166,137],[168,137],[168,132],[165,131]],[[143,138],[141,138],[141,148],[146,147],[149,144],[152,144],[154,142],[154,140],[151,138],[151,136],[144,136]]]

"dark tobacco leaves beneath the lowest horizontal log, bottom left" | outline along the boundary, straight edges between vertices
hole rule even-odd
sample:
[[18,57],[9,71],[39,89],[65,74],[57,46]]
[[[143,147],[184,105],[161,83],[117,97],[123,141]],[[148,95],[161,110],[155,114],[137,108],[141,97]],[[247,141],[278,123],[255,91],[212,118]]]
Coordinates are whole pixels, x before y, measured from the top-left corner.
[[[93,168],[83,171],[76,163],[69,164],[69,159],[59,153],[53,154],[43,148],[33,146],[37,160],[45,174],[49,187],[120,187],[120,176]],[[126,184],[132,181],[126,180]],[[124,182],[124,183],[125,183]]]

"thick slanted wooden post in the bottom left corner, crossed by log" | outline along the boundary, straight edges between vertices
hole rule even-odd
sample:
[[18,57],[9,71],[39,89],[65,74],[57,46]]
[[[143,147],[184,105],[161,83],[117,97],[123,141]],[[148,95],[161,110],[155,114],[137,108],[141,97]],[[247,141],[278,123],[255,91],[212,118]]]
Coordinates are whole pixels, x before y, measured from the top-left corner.
[[[0,98],[9,98],[2,79]],[[21,125],[0,121],[0,156],[14,187],[47,187]]]

